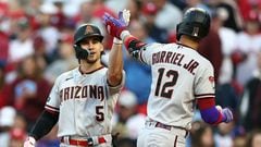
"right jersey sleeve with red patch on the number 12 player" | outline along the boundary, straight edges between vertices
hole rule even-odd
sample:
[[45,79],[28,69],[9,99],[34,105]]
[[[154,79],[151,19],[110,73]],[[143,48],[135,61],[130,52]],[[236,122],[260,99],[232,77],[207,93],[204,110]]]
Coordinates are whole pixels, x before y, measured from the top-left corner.
[[215,94],[214,70],[210,62],[199,69],[195,79],[195,97],[212,98]]

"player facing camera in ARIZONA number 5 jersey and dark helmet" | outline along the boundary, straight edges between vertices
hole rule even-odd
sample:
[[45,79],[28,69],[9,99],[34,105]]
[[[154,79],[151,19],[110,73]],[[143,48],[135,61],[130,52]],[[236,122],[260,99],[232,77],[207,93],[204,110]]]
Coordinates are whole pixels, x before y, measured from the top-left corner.
[[[127,25],[128,11],[119,13]],[[62,147],[111,147],[111,119],[124,85],[122,40],[114,39],[109,64],[101,64],[103,36],[91,24],[82,25],[74,35],[79,66],[61,74],[47,99],[24,147],[35,147],[58,122]]]

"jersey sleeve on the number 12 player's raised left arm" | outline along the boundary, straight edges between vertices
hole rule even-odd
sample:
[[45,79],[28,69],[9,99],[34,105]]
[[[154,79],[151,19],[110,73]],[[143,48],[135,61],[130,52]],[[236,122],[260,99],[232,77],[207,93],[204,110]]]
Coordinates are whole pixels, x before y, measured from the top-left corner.
[[161,44],[158,42],[153,42],[153,44],[148,44],[146,46],[144,46],[140,50],[139,50],[139,56],[138,56],[138,60],[140,62],[144,62],[146,64],[151,64],[152,63],[152,54],[157,51],[159,51],[159,49],[161,48]]

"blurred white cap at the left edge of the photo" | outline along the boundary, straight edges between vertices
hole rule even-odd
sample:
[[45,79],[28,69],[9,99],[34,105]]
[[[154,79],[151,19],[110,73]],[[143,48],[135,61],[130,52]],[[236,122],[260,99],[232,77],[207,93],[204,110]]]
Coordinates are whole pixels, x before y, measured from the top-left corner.
[[0,110],[0,126],[12,126],[16,112],[13,107],[3,107]]

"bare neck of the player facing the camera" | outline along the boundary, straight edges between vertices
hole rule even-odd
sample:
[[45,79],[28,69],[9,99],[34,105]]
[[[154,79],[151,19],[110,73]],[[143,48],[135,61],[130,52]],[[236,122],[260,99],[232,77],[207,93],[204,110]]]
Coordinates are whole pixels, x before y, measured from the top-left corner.
[[101,66],[102,64],[100,62],[95,62],[95,63],[80,62],[79,71],[83,74],[90,73],[92,71],[96,71],[97,69],[100,69]]

